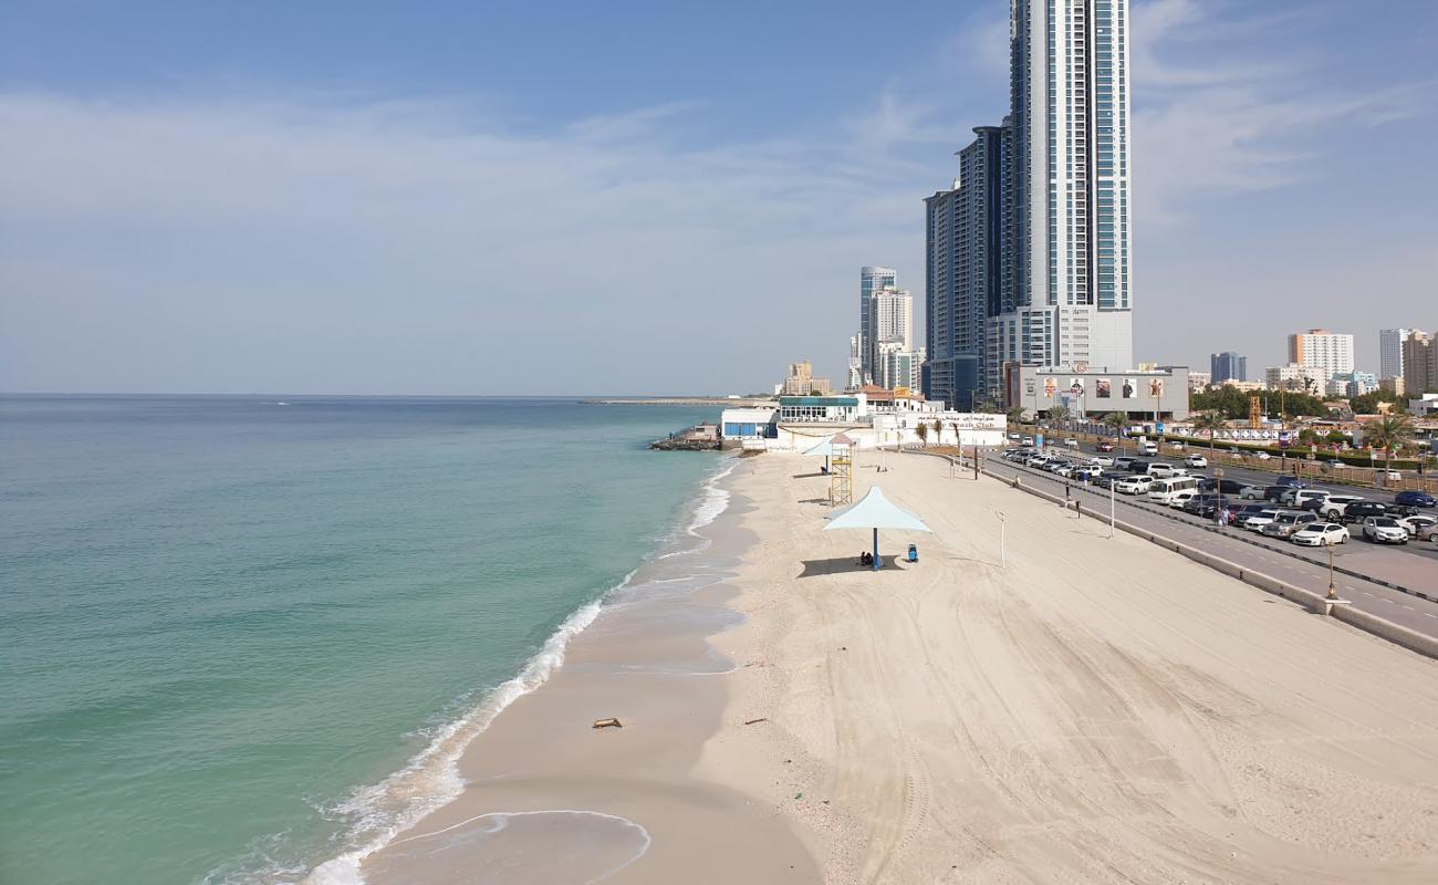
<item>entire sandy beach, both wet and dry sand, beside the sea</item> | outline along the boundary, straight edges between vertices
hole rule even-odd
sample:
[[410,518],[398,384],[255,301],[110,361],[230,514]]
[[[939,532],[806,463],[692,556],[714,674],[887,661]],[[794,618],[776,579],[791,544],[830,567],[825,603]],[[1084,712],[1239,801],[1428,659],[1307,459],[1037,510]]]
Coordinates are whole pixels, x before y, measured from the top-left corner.
[[917,563],[854,566],[817,459],[738,460],[707,544],[365,881],[1432,881],[1435,662],[940,459],[858,460],[856,496],[933,528],[881,535]]

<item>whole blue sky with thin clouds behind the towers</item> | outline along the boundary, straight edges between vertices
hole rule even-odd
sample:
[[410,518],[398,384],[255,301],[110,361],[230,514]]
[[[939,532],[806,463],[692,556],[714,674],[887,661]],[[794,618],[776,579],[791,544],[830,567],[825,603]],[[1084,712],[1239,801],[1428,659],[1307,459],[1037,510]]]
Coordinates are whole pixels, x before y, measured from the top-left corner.
[[[1438,4],[1133,0],[1135,358],[1438,330]],[[843,381],[1005,0],[0,0],[0,390]]]

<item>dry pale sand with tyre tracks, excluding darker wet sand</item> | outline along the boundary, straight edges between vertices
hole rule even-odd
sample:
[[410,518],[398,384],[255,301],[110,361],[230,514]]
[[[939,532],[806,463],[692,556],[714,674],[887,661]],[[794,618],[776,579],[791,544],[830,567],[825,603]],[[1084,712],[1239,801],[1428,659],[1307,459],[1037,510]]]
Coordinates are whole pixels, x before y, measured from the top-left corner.
[[725,678],[695,776],[798,822],[824,881],[1438,881],[1438,665],[883,458],[856,496],[877,479],[935,534],[884,535],[922,561],[879,574],[853,567],[864,532],[820,531],[812,459],[733,484],[751,620],[715,643],[756,666]]

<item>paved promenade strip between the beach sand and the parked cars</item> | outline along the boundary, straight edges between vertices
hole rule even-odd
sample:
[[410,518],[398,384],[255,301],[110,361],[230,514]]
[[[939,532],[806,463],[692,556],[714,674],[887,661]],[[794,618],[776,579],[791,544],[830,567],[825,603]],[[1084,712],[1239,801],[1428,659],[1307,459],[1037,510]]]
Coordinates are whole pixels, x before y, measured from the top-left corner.
[[[1015,475],[1021,475],[1022,482],[1037,484],[1038,488],[1063,494],[1064,479],[1053,473],[1031,471],[1002,460],[998,456],[986,458],[984,466],[997,476],[1012,479]],[[1070,484],[1070,489],[1074,498],[1083,502],[1086,512],[1090,509],[1100,511],[1103,515],[1109,512],[1107,491],[1084,489],[1081,485],[1074,484]],[[1114,504],[1117,517],[1125,522],[1206,550],[1225,560],[1286,580],[1313,593],[1327,593],[1327,566],[1300,558],[1300,548],[1291,544],[1270,541],[1268,538],[1260,541],[1254,532],[1240,528],[1218,531],[1188,514],[1150,505],[1142,498],[1132,499],[1126,495],[1116,495]],[[1363,541],[1349,541],[1334,548],[1333,560],[1336,566],[1349,567],[1355,571],[1402,584],[1438,599],[1438,551],[1419,551],[1419,545],[1415,544],[1409,544],[1408,547],[1412,548],[1411,554],[1402,554],[1392,548],[1379,550]],[[1320,558],[1326,555],[1326,551],[1322,548],[1303,548],[1301,555]],[[1438,603],[1342,573],[1334,574],[1334,583],[1337,584],[1339,596],[1352,600],[1353,607],[1418,630],[1419,633],[1438,636]]]

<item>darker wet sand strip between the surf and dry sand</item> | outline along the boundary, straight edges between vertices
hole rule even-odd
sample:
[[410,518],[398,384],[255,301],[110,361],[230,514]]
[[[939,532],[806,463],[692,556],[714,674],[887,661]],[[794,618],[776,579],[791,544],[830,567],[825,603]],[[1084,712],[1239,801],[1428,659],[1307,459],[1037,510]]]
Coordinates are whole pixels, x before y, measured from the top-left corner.
[[[692,881],[695,865],[739,878],[808,869],[818,881],[772,814],[692,777],[735,668],[709,639],[742,622],[726,581],[754,541],[732,491],[745,469],[735,459],[707,479],[679,538],[605,594],[546,681],[467,741],[457,796],[352,873],[336,865],[309,881]],[[591,728],[607,717],[623,727]]]

